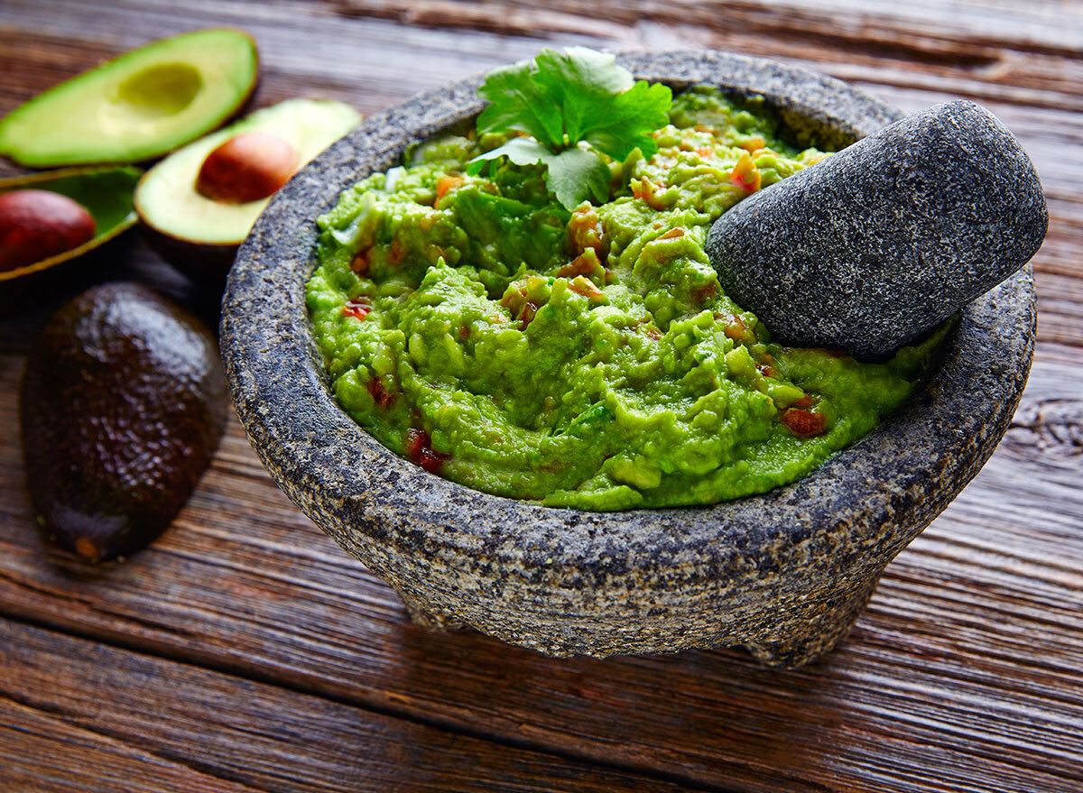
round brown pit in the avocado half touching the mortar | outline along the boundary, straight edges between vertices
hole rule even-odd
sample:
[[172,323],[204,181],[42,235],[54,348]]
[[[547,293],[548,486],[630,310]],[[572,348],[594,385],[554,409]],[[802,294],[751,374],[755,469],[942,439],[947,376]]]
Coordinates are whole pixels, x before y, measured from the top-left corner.
[[222,204],[257,202],[288,182],[299,160],[297,150],[278,135],[243,132],[207,155],[196,191]]

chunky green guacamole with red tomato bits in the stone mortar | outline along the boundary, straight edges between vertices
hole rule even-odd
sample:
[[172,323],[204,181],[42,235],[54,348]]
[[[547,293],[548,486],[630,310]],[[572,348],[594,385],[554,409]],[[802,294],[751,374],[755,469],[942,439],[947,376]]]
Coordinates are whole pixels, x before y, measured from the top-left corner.
[[943,332],[885,363],[772,343],[704,240],[743,197],[828,156],[710,88],[658,151],[606,160],[564,209],[544,166],[465,164],[508,140],[414,148],[318,220],[308,307],[339,404],[456,482],[552,506],[712,504],[792,482],[902,404]]

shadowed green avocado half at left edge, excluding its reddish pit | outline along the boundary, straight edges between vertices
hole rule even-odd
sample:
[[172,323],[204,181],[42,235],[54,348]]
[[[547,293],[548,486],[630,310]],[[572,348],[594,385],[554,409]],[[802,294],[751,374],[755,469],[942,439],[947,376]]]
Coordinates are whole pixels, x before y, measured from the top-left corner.
[[47,190],[60,193],[80,204],[94,219],[94,236],[89,240],[15,270],[0,271],[0,282],[48,270],[75,259],[113,239],[135,224],[133,193],[143,171],[133,166],[122,168],[63,168],[42,173],[0,179],[0,195],[16,190]]

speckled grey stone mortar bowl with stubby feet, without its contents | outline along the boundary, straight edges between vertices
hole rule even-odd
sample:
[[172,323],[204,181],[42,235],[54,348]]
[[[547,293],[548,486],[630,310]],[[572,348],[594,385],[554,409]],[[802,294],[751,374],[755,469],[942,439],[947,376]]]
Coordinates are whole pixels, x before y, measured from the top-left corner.
[[[766,98],[796,143],[899,118],[835,79],[718,52],[625,54],[637,77]],[[713,506],[590,512],[481,493],[396,456],[335,403],[304,283],[315,218],[409,143],[481,108],[480,78],[369,118],[280,191],[242,246],[221,348],[237,412],[286,494],[393,586],[413,619],[550,655],[745,645],[800,665],[848,632],[884,567],[992,454],[1027,380],[1030,268],[968,306],[898,414],[794,484]]]

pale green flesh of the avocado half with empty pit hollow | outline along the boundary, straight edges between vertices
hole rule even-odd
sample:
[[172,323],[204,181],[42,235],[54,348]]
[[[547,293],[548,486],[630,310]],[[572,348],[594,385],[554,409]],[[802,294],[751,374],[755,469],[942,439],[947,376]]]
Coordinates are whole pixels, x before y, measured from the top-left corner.
[[34,168],[138,162],[220,126],[256,86],[256,43],[230,28],[154,41],[0,120],[0,154]]

